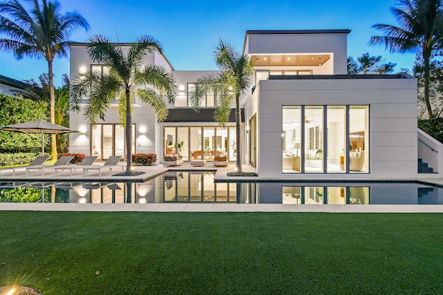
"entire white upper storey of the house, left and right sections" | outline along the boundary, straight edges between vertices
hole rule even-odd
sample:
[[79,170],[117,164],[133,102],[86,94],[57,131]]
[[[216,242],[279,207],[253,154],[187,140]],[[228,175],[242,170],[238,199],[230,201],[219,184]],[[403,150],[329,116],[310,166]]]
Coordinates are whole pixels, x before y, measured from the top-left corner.
[[[248,30],[243,54],[253,63],[252,85],[272,75],[344,75],[347,73],[347,35],[350,30]],[[70,77],[87,71],[106,73],[107,66],[93,61],[87,54],[87,43],[71,42]],[[118,44],[125,53],[131,44]],[[170,70],[179,93],[169,108],[192,108],[189,93],[195,81],[204,75],[216,75],[219,70],[174,70],[165,55],[151,53],[145,65],[160,65]],[[251,91],[248,91],[251,93]],[[215,108],[217,93],[207,93],[201,108]]]

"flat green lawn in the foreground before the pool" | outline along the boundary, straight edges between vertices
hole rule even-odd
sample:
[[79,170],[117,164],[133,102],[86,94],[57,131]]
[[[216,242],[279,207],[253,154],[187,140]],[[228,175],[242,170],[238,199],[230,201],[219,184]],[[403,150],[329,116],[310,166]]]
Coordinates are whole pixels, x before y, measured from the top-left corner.
[[1,211],[0,224],[0,285],[44,294],[443,292],[437,213]]

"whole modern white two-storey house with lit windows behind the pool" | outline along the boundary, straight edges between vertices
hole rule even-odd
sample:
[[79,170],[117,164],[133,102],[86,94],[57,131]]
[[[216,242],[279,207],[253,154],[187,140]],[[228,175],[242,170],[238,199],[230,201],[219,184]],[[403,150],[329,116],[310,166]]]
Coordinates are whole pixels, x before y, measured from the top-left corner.
[[[179,88],[165,122],[150,107],[134,104],[133,153],[180,153],[183,160],[211,161],[226,153],[267,179],[417,179],[441,177],[443,147],[417,129],[417,80],[396,75],[347,75],[350,30],[246,31],[243,53],[251,58],[253,87],[242,105],[242,151],[235,145],[235,114],[222,128],[213,119],[217,93],[207,93],[200,111],[188,93],[195,80],[217,71],[174,70],[152,53],[146,64],[172,71]],[[71,77],[107,67],[89,59],[87,44],[71,43]],[[120,44],[123,48],[129,44]],[[116,106],[91,128],[71,113],[71,152],[125,154],[125,132]],[[419,173],[418,159],[431,173]],[[425,165],[425,164],[420,164]],[[426,171],[426,169],[424,169]]]

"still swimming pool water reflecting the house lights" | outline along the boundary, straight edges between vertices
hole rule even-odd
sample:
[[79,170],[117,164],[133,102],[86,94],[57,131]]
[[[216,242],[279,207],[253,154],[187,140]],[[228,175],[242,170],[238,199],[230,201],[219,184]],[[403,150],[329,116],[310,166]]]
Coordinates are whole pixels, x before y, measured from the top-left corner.
[[443,189],[416,182],[215,182],[213,171],[180,171],[147,182],[2,182],[0,202],[443,204]]

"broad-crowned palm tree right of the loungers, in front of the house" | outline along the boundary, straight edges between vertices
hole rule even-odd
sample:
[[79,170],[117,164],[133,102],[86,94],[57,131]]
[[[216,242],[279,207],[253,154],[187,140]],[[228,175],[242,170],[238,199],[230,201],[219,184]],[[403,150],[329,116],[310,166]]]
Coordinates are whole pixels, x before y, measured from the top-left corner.
[[77,77],[71,85],[71,109],[80,111],[84,97],[89,103],[84,109],[87,120],[94,126],[97,120],[105,120],[105,113],[111,102],[118,103],[120,124],[125,126],[126,134],[126,172],[131,174],[132,166],[132,103],[138,97],[150,105],[157,120],[163,122],[168,117],[168,107],[163,101],[174,104],[177,95],[172,73],[158,65],[143,66],[146,55],[155,51],[162,53],[159,42],[150,36],[142,36],[129,46],[125,55],[122,48],[102,35],[89,39],[88,54],[91,59],[109,66],[109,73],[89,71],[83,77]]

